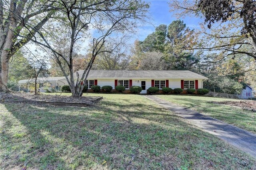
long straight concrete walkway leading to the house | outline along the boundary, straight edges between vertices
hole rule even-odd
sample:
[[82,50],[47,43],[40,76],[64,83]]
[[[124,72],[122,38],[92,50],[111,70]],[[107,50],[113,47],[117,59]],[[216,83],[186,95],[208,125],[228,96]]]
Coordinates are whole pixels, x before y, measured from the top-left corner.
[[176,115],[183,117],[193,125],[202,128],[202,130],[214,134],[218,138],[221,138],[256,158],[256,134],[165,101],[156,96],[146,95],[145,97],[172,111]]

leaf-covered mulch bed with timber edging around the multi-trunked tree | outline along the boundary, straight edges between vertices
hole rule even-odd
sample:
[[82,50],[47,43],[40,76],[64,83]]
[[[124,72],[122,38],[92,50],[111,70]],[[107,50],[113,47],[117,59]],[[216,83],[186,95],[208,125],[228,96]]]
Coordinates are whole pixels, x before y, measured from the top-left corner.
[[96,101],[99,101],[102,97],[98,96],[81,96],[81,97],[71,97],[64,95],[34,95],[32,93],[0,93],[1,103],[48,103],[48,104],[58,104],[58,105],[92,105]]

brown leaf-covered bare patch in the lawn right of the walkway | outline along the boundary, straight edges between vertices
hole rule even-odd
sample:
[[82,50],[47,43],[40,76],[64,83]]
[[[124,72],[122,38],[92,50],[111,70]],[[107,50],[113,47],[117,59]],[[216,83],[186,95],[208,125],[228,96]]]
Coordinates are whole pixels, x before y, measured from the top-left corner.
[[214,102],[214,103],[242,107],[244,109],[250,109],[252,111],[256,111],[256,101],[222,101],[222,102]]

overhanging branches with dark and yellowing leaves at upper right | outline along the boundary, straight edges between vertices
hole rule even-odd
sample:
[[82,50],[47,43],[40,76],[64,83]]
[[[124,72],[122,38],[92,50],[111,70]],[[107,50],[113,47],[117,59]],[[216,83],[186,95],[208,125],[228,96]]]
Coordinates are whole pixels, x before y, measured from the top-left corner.
[[187,49],[220,51],[216,61],[236,54],[248,55],[256,60],[256,1],[173,0],[170,11],[177,16],[189,15],[204,20],[202,28],[196,32],[200,35],[198,43]]

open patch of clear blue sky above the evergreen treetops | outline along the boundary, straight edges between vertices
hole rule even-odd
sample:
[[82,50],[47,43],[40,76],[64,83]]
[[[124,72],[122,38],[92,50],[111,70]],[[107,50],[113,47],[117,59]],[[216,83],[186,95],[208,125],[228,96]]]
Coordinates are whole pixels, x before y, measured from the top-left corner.
[[[146,24],[145,26],[140,27],[134,40],[138,39],[142,41],[148,34],[154,32],[156,26],[159,26],[160,24],[166,24],[168,26],[174,20],[183,20],[191,29],[199,28],[198,23],[202,22],[200,18],[192,18],[188,16],[184,18],[176,18],[176,16],[173,16],[168,5],[170,0],[146,0],[146,2],[150,3],[149,15],[152,18],[152,20],[150,20],[152,25]],[[132,41],[134,42],[134,40]]]

